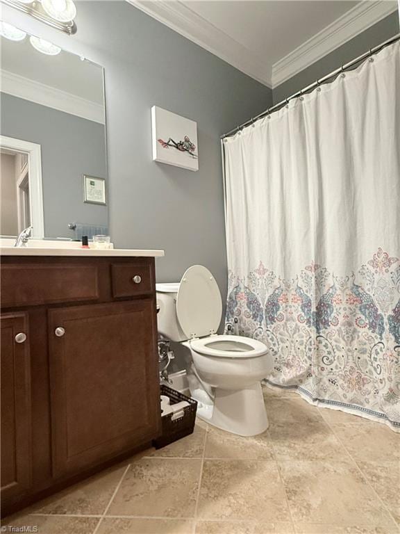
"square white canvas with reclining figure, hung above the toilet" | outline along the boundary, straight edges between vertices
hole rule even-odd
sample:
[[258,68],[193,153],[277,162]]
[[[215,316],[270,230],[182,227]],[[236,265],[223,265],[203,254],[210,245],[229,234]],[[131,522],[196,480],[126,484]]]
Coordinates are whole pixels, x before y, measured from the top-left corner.
[[197,122],[171,111],[151,108],[153,161],[199,170]]

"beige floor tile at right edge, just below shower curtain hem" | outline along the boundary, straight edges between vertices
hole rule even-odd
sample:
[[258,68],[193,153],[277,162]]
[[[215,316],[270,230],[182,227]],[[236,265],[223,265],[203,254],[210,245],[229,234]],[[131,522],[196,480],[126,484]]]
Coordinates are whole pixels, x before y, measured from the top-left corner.
[[331,428],[356,460],[400,460],[400,434],[386,425],[369,421],[365,425],[334,424]]

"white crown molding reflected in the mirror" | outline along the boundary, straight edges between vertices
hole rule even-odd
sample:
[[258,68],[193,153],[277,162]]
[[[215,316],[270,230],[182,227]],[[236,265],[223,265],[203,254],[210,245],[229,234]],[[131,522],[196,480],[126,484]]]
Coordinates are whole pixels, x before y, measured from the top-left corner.
[[70,92],[44,85],[39,81],[19,76],[14,72],[0,70],[1,92],[8,95],[30,100],[35,104],[64,111],[83,119],[105,124],[104,108],[101,104],[82,97],[72,95]]

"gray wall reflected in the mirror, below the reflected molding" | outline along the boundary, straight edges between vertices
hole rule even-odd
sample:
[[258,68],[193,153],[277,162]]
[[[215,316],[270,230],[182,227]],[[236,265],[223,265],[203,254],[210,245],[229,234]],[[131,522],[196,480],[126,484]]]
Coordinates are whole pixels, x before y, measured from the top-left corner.
[[68,223],[108,225],[108,207],[83,202],[83,174],[107,177],[103,124],[1,93],[1,134],[41,145],[44,235],[72,237]]

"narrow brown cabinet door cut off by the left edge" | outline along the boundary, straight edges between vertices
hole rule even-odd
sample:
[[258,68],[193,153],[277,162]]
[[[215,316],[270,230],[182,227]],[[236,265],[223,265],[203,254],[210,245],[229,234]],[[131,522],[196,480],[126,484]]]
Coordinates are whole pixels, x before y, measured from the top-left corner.
[[[26,337],[26,338],[25,338]],[[31,375],[28,317],[1,316],[1,498],[31,486]]]

